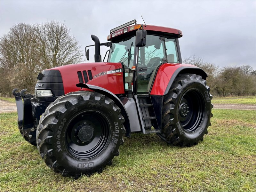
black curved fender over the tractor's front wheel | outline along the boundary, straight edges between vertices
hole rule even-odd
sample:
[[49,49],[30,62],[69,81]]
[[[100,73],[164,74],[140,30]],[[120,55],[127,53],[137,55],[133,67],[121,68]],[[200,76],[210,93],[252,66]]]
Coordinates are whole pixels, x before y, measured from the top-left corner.
[[101,94],[106,95],[110,99],[112,99],[116,103],[116,105],[121,109],[121,114],[125,119],[125,121],[124,121],[124,127],[126,129],[125,136],[126,137],[131,137],[130,119],[129,119],[128,113],[127,113],[122,101],[118,97],[116,97],[116,95],[114,93],[112,93],[112,92],[110,92],[107,89],[104,89],[102,87],[95,86],[95,85],[90,85],[90,84],[85,84],[85,83],[79,83],[79,84],[76,84],[76,86],[77,87],[83,87],[83,88],[86,88],[86,89],[90,89],[90,90],[95,91],[95,92],[99,92]]

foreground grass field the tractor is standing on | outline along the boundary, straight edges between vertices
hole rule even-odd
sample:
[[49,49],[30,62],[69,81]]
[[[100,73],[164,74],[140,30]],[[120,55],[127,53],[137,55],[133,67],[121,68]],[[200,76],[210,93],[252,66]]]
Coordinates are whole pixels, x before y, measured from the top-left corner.
[[78,180],[47,167],[17,128],[1,117],[1,191],[255,191],[255,110],[213,109],[204,141],[174,147],[156,134],[125,138],[103,173]]

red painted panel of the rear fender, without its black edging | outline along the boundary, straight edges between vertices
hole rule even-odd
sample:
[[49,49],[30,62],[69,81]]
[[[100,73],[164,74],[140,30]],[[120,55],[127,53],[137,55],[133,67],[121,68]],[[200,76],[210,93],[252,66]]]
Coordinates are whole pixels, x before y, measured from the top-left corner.
[[190,64],[171,64],[171,63],[164,63],[161,65],[157,71],[155,81],[153,83],[150,95],[164,95],[164,92],[167,88],[167,85],[173,75],[173,73],[182,66],[188,66],[196,68],[194,65]]

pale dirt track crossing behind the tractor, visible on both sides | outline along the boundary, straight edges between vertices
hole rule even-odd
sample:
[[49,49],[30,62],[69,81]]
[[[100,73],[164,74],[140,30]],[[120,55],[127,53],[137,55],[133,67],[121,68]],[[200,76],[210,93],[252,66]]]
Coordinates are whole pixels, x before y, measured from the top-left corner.
[[[214,104],[214,109],[244,109],[244,110],[255,110],[255,105],[247,104]],[[0,100],[0,113],[15,112],[16,104],[8,101]]]

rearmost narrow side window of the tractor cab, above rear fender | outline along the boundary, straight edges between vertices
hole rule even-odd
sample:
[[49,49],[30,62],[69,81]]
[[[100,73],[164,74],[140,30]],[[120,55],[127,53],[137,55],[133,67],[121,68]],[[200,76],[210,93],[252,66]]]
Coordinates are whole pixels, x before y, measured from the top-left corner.
[[168,63],[179,63],[176,40],[172,38],[165,38],[165,48]]

